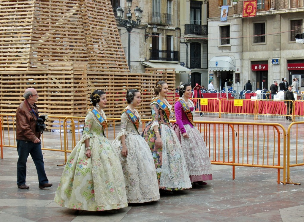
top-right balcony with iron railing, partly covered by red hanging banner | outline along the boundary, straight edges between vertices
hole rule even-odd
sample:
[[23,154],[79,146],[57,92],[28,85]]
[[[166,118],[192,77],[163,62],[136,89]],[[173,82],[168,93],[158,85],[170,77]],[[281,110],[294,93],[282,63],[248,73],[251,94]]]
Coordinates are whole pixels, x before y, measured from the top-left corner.
[[[233,5],[234,14],[243,13],[243,2],[238,1],[237,5]],[[257,1],[257,12],[302,8],[303,2],[304,0],[261,0]]]

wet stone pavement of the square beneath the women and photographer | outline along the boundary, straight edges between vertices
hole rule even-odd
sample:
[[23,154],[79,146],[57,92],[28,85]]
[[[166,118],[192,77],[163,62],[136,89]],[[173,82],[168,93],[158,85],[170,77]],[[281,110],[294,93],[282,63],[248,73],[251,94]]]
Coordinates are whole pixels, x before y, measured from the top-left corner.
[[[252,117],[213,115],[195,120],[253,121]],[[286,129],[289,123],[282,118],[264,118],[262,122],[280,122]],[[58,133],[46,132],[45,142],[54,141]],[[301,142],[303,143],[303,141]],[[28,158],[28,190],[17,188],[16,148],[4,147],[0,159],[0,221],[18,222],[78,222],[78,221],[304,221],[304,168],[293,167],[292,179],[302,185],[276,183],[276,170],[256,167],[236,167],[232,180],[232,167],[212,165],[213,180],[207,185],[162,194],[161,199],[146,204],[130,204],[118,213],[76,211],[53,202],[63,166],[63,153],[43,150],[50,189],[39,189],[36,169]]]

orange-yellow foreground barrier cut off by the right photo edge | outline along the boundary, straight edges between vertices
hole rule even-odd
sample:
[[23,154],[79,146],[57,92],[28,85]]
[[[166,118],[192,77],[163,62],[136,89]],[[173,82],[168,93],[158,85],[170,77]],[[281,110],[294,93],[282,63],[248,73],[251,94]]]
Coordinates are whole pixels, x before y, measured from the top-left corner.
[[[304,166],[304,150],[303,150],[303,126],[304,122],[293,122],[287,130],[287,184],[300,185],[290,178],[290,168]],[[292,138],[291,138],[292,137]],[[293,139],[293,141],[291,141]],[[292,157],[292,159],[290,159]],[[302,178],[302,176],[301,176]]]

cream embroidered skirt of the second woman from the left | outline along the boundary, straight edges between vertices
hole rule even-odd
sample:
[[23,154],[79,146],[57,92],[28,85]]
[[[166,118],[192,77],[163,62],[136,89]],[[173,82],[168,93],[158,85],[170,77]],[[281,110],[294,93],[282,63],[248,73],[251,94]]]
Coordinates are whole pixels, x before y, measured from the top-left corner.
[[127,157],[121,154],[121,140],[116,138],[112,144],[123,167],[128,203],[158,200],[160,197],[154,161],[146,141],[139,134],[128,133]]

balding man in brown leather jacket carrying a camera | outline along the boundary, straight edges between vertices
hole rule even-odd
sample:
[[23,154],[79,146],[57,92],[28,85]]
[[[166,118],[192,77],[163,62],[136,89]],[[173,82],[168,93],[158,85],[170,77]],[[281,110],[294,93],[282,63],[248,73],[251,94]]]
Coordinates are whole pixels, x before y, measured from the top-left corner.
[[38,93],[34,88],[24,91],[25,100],[16,110],[16,140],[17,140],[17,186],[19,189],[29,189],[26,181],[26,161],[31,157],[36,166],[39,188],[51,187],[44,170],[43,155],[41,151],[41,131],[36,131],[36,120],[39,118],[38,108],[35,102],[38,101]]

